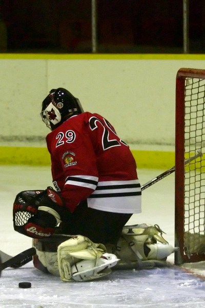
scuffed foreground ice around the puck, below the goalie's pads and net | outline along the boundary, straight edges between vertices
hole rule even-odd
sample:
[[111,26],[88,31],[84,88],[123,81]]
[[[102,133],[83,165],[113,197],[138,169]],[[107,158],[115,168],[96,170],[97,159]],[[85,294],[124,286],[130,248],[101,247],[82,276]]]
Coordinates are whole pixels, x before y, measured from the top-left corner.
[[[32,287],[18,288],[21,281],[30,281]],[[204,308],[204,287],[205,281],[174,267],[113,271],[98,281],[65,283],[34,269],[31,262],[2,272],[0,306]]]

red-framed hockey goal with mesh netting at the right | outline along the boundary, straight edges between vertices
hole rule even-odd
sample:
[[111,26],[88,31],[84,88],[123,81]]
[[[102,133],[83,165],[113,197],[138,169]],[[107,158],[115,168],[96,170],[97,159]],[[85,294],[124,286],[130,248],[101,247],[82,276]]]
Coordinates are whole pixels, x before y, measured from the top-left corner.
[[175,264],[205,261],[205,70],[176,75]]

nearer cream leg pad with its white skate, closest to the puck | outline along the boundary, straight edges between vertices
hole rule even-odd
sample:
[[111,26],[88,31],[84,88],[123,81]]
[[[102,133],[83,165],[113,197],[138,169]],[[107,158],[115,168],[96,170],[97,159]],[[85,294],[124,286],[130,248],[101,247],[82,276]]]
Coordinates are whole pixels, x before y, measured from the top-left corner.
[[65,282],[88,281],[108,275],[118,262],[114,254],[107,254],[103,244],[93,243],[81,235],[61,243],[57,258],[60,278]]

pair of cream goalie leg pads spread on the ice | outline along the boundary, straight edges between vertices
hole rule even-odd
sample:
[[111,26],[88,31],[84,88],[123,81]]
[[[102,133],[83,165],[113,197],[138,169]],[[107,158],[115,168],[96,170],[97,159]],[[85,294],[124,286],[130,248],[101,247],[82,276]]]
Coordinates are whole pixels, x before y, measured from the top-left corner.
[[162,237],[159,226],[149,224],[125,226],[112,251],[109,245],[93,243],[81,235],[33,239],[33,246],[34,266],[65,282],[98,279],[109,275],[112,267],[167,266],[167,257],[175,251]]

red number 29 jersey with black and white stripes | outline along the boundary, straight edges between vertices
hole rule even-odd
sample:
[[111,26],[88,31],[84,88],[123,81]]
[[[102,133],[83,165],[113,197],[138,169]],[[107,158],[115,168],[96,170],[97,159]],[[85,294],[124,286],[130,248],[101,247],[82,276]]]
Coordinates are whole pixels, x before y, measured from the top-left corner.
[[101,115],[83,112],[46,138],[53,184],[74,211],[88,207],[114,213],[140,213],[141,188],[129,147]]

